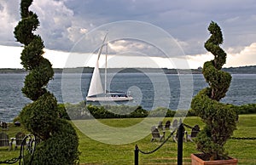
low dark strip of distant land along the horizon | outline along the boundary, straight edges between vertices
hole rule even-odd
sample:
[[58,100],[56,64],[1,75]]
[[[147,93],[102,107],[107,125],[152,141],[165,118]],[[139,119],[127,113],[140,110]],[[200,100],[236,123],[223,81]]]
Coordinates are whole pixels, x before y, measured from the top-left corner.
[[[167,69],[162,68],[166,74],[201,74],[201,67],[198,69]],[[66,73],[92,73],[92,67],[78,67],[78,68],[54,68],[55,73],[62,73],[63,70]],[[256,74],[256,65],[249,65],[249,66],[240,66],[240,67],[229,67],[223,68],[223,71],[227,71],[230,74]],[[108,72],[122,72],[122,73],[137,73],[137,72],[152,72],[158,73],[160,72],[159,68],[108,68]],[[26,73],[25,69],[15,69],[15,68],[0,68],[1,74],[9,74],[9,73]]]

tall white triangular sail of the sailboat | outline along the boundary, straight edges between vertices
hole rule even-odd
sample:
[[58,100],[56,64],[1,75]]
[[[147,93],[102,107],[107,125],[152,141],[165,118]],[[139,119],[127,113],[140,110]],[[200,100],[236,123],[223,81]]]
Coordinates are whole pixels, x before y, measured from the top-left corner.
[[87,94],[87,96],[89,96],[89,97],[92,96],[92,95],[103,94],[104,93],[104,90],[102,88],[102,80],[101,80],[100,70],[99,70],[99,59],[100,59],[100,56],[102,54],[102,48],[104,46],[106,37],[107,37],[107,34],[104,37],[101,48],[99,49],[98,57],[97,57],[97,60],[96,60],[96,66],[94,67],[94,71],[92,73],[92,77],[91,77],[91,80],[90,80],[90,88],[89,88],[89,91],[88,91],[88,94]]

